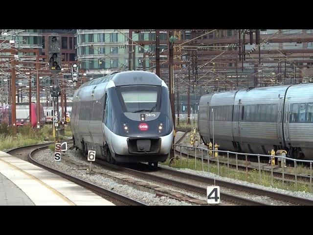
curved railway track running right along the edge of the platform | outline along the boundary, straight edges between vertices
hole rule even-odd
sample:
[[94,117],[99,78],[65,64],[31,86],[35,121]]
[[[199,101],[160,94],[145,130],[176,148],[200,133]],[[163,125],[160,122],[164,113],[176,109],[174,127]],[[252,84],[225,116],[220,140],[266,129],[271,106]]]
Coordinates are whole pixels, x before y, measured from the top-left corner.
[[[68,141],[67,141],[68,142]],[[56,169],[47,167],[41,163],[39,163],[38,161],[36,161],[33,158],[33,155],[41,150],[46,149],[51,143],[53,142],[49,142],[49,143],[44,143],[44,144],[37,144],[37,145],[30,145],[30,146],[25,146],[25,147],[19,147],[19,148],[15,148],[12,149],[10,151],[8,151],[7,153],[13,155],[13,156],[17,156],[19,158],[23,158],[25,155],[27,155],[27,161],[35,164],[39,167],[42,167],[54,174],[57,174],[69,181],[74,182],[75,184],[78,184],[84,188],[89,189],[90,191],[96,193],[97,195],[105,198],[106,200],[111,201],[113,204],[115,205],[119,205],[119,206],[145,206],[146,204],[138,202],[132,198],[126,197],[124,195],[121,195],[119,193],[113,192],[111,190],[105,189],[105,188],[101,188],[97,185],[94,185],[92,183],[89,183],[87,181],[84,181],[82,179],[73,177],[71,175],[68,175],[66,173],[60,172]]]

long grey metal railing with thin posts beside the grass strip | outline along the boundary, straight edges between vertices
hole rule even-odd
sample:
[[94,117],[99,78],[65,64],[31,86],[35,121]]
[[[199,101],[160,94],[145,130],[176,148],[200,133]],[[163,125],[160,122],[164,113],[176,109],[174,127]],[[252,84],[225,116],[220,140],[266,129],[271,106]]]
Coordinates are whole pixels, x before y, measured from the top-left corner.
[[[237,153],[237,152],[232,152],[232,151],[224,151],[224,150],[215,150],[215,149],[207,149],[207,148],[202,148],[202,147],[192,147],[192,146],[187,146],[187,145],[181,145],[181,144],[174,144],[174,153],[176,150],[175,147],[179,147],[179,151],[180,151],[180,159],[181,159],[181,148],[187,148],[187,167],[189,165],[189,149],[193,150],[195,152],[195,169],[197,169],[197,159],[201,159],[201,164],[202,164],[202,171],[203,171],[203,152],[206,152],[206,156],[207,156],[207,167],[208,167],[208,172],[210,172],[210,161],[208,158],[208,153],[212,152],[212,155],[215,155],[215,152],[218,153],[226,153],[227,154],[227,177],[229,176],[229,154],[235,154],[236,155],[236,172],[238,173],[238,155],[243,155],[246,157],[246,172],[248,171],[248,156],[253,156],[253,157],[257,157],[258,158],[258,170],[259,170],[259,181],[262,181],[261,178],[261,162],[260,162],[260,157],[267,157],[269,158],[269,161],[271,161],[273,158],[277,161],[280,161],[281,163],[283,163],[284,165],[286,164],[286,160],[290,160],[293,161],[294,163],[294,179],[295,179],[295,187],[297,188],[297,164],[298,163],[310,163],[310,191],[312,192],[312,164],[313,161],[309,161],[309,160],[299,160],[299,159],[293,159],[293,158],[288,158],[288,157],[284,157],[284,156],[274,156],[274,155],[265,155],[265,154],[250,154],[250,153]],[[197,151],[198,150],[198,151]],[[201,152],[201,156],[197,156],[197,152]],[[206,158],[204,158],[206,159]],[[271,165],[271,186],[273,185],[273,165]],[[285,184],[285,170],[284,170],[284,165],[282,167],[282,183],[283,185]],[[219,154],[217,155],[217,171],[218,171],[218,175],[220,175],[220,161],[219,161]]]

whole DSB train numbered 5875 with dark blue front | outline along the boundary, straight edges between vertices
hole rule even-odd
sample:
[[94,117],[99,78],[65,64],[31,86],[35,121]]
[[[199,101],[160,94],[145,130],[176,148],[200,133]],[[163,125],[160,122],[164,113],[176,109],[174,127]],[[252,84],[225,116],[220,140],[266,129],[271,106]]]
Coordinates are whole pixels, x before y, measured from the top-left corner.
[[164,162],[173,142],[169,91],[156,74],[115,72],[75,91],[74,145],[111,163]]

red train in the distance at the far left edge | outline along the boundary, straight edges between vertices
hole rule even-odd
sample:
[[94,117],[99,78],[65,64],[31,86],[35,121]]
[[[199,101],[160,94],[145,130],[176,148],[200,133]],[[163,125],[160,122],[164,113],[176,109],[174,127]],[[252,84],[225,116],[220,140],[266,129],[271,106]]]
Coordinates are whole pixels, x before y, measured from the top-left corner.
[[[6,122],[11,125],[11,106],[0,106],[0,121]],[[29,103],[17,103],[16,104],[16,125],[23,126],[29,124]],[[40,125],[45,124],[44,108],[40,105]],[[37,125],[37,104],[31,103],[31,126]]]

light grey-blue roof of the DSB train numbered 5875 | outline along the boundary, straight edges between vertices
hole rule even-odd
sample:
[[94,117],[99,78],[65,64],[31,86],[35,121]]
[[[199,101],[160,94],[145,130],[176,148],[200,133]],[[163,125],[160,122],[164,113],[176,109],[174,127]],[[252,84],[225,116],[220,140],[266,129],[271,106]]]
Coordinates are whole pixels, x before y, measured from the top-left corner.
[[153,86],[162,85],[162,80],[153,72],[123,71],[123,72],[114,72],[104,77],[95,78],[89,82],[86,82],[80,88],[108,82],[110,80],[114,82],[115,86],[146,85],[146,84]]

